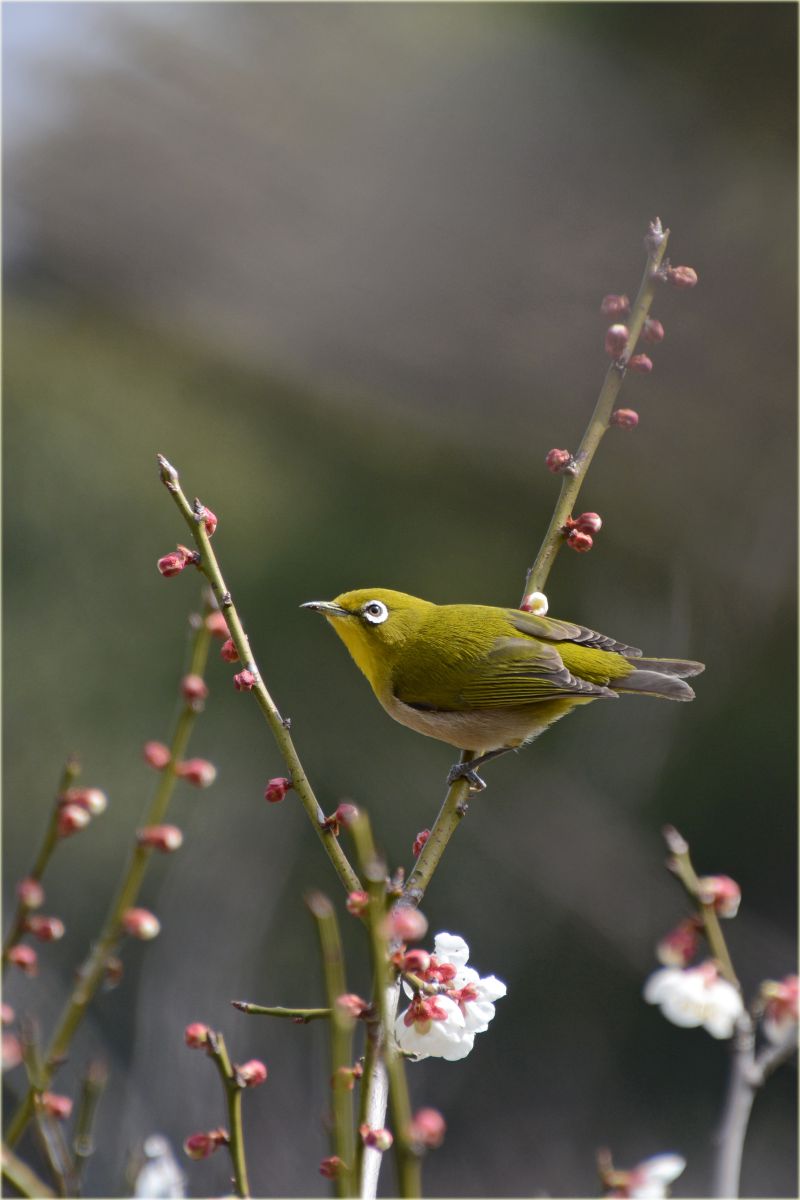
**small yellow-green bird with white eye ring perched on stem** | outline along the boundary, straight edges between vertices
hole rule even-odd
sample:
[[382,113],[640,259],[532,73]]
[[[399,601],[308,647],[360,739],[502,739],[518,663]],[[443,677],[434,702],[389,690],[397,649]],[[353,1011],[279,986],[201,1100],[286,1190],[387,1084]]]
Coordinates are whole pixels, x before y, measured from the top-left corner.
[[387,588],[302,605],[321,612],[390,716],[477,757],[447,782],[537,737],[578,704],[640,692],[693,700],[702,662],[644,659],[583,625],[488,605],[437,605]]

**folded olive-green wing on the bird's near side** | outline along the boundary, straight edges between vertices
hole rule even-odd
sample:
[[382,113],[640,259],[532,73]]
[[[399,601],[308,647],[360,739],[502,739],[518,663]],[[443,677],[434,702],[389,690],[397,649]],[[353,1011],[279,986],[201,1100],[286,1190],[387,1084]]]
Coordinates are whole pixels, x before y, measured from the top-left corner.
[[446,664],[432,664],[425,672],[419,664],[410,673],[397,671],[392,692],[404,704],[441,712],[517,708],[564,696],[614,695],[608,688],[576,678],[554,646],[527,637],[498,637],[488,653],[452,655]]

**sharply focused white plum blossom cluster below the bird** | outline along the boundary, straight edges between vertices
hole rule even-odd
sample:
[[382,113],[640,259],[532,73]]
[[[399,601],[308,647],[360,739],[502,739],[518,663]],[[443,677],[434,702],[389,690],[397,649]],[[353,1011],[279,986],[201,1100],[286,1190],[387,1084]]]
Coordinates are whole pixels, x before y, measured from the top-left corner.
[[395,1022],[395,1038],[401,1050],[415,1060],[439,1057],[451,1062],[465,1058],[494,1016],[494,1002],[506,994],[506,985],[495,976],[481,978],[468,967],[469,946],[455,934],[437,934],[425,983],[439,984],[438,995],[414,994],[403,984],[411,1003]]

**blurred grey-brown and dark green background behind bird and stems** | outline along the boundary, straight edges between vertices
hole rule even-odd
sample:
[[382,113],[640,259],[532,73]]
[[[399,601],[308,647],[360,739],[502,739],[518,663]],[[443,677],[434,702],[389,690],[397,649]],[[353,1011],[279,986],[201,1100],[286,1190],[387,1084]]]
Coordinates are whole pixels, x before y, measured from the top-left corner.
[[[509,996],[468,1060],[409,1076],[449,1124],[431,1195],[593,1195],[601,1146],[679,1151],[675,1194],[708,1194],[727,1046],[642,986],[687,912],[666,822],[741,883],[748,994],[795,964],[795,7],[11,2],[2,22],[6,920],[68,752],[110,802],[48,876],[66,937],[6,998],[52,1028],[154,788],[142,744],[174,720],[200,590],[156,571],[186,538],[156,452],[219,516],[323,806],[363,805],[410,868],[453,752],[391,722],[299,605],[519,601],[559,487],[545,454],[577,445],[606,370],[600,300],[634,294],[660,215],[699,287],[657,298],[655,371],[622,392],[639,427],[610,431],[582,492],[602,533],[548,593],[708,670],[691,706],[593,706],[487,769],[425,911]],[[215,644],[191,749],[218,780],[179,790],[185,846],[149,871],[162,935],[125,947],[59,1075],[110,1066],[89,1194],[126,1194],[148,1134],[223,1120],[192,1020],[270,1067],[245,1105],[254,1194],[327,1194],[324,1030],[229,1001],[320,1003],[302,895],[343,896],[299,804],[264,803],[283,764],[230,677]],[[786,1067],[756,1102],[745,1195],[796,1195],[795,1087]],[[223,1154],[186,1172],[228,1190]]]

